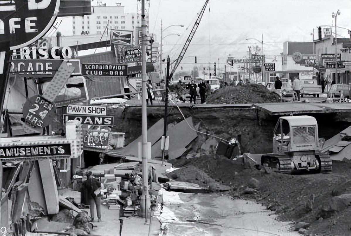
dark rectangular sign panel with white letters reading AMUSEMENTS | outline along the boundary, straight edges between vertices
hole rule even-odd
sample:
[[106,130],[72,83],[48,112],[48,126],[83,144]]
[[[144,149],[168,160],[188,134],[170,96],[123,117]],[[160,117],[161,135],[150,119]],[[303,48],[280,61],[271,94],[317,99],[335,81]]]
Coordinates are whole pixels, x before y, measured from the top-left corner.
[[71,144],[69,143],[0,147],[0,159],[66,156],[71,156]]

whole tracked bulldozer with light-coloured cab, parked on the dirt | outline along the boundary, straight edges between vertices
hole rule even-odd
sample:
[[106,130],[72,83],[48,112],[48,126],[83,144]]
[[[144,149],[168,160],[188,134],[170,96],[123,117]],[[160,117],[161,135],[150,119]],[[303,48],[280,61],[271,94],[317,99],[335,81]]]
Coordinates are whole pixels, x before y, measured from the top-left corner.
[[314,117],[281,116],[273,131],[273,152],[261,156],[261,165],[285,174],[331,173],[332,161],[322,146]]

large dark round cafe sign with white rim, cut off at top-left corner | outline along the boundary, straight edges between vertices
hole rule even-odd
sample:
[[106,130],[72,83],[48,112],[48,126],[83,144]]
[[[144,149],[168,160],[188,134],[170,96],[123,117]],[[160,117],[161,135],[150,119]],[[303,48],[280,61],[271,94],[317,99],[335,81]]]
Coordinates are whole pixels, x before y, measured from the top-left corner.
[[25,47],[44,36],[59,11],[60,0],[15,0],[0,4],[0,41],[10,49]]

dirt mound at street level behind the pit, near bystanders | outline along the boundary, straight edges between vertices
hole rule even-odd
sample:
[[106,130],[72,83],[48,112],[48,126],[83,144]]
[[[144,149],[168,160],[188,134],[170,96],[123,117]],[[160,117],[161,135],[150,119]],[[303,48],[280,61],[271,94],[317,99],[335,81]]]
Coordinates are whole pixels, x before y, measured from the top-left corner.
[[226,86],[208,96],[208,104],[268,103],[280,102],[278,94],[270,92],[263,85]]

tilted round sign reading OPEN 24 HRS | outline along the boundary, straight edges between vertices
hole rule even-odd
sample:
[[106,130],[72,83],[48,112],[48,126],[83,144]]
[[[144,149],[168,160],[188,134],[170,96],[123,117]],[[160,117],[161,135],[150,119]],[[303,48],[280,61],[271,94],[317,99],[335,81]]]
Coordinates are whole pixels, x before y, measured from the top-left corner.
[[23,106],[23,118],[34,127],[45,127],[55,118],[56,106],[40,95],[28,99]]

